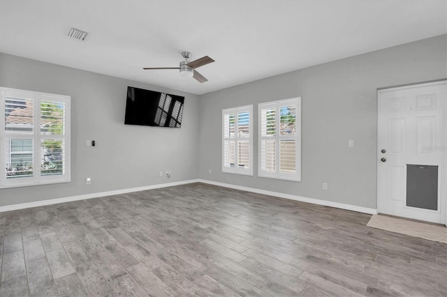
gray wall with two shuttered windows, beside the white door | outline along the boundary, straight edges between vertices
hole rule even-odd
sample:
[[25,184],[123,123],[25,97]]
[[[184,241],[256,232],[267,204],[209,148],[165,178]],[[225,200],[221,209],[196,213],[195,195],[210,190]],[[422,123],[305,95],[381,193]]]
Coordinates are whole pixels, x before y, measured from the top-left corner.
[[[446,44],[446,35],[437,36],[201,96],[199,178],[376,208],[376,89],[447,77]],[[257,133],[255,175],[222,173],[221,109],[254,104],[257,131],[259,102],[296,96],[302,98],[302,181],[256,176]]]

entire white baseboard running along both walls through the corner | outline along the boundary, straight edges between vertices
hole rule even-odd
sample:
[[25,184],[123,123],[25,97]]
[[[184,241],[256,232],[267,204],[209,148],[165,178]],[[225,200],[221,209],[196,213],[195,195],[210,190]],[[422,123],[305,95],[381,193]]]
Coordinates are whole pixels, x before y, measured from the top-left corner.
[[5,211],[16,211],[17,209],[59,204],[59,203],[64,203],[64,202],[92,199],[92,198],[105,197],[105,196],[111,196],[111,195],[120,195],[120,194],[126,194],[126,193],[130,193],[130,192],[139,192],[139,191],[152,190],[152,189],[158,189],[158,188],[166,188],[166,187],[172,187],[174,185],[186,185],[187,183],[207,183],[210,185],[219,185],[220,187],[224,187],[224,188],[232,188],[235,190],[254,192],[254,193],[258,193],[258,194],[270,195],[270,196],[274,196],[274,197],[291,199],[291,200],[295,200],[295,201],[302,201],[302,202],[307,202],[307,203],[312,203],[312,204],[331,206],[331,207],[335,207],[335,208],[342,208],[342,209],[346,209],[348,211],[357,211],[359,213],[369,213],[371,215],[377,214],[377,210],[374,208],[366,208],[366,207],[355,206],[355,205],[351,205],[351,204],[342,204],[342,203],[338,203],[338,202],[325,201],[325,200],[321,200],[321,199],[307,198],[307,197],[301,197],[301,196],[296,196],[296,195],[284,194],[284,193],[280,193],[280,192],[260,190],[260,189],[256,189],[256,188],[243,187],[241,185],[231,185],[229,183],[219,183],[217,181],[208,181],[206,179],[191,179],[188,181],[176,181],[173,183],[161,183],[158,185],[145,185],[144,187],[138,187],[138,188],[128,188],[128,189],[113,190],[113,191],[108,191],[108,192],[97,192],[97,193],[91,193],[91,194],[86,194],[86,195],[78,195],[78,196],[71,196],[71,197],[64,197],[64,198],[57,198],[57,199],[34,201],[34,202],[28,202],[28,203],[22,203],[22,204],[0,206],[0,213],[3,213]]

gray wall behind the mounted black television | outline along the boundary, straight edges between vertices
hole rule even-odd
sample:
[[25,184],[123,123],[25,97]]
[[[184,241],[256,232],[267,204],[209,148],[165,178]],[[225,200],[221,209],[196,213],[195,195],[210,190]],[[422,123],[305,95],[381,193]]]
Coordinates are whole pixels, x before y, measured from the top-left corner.
[[[124,125],[129,85],[185,96],[182,128]],[[196,95],[1,53],[0,86],[69,95],[72,119],[71,183],[3,189],[0,206],[198,177]],[[171,178],[160,177],[167,169]]]

